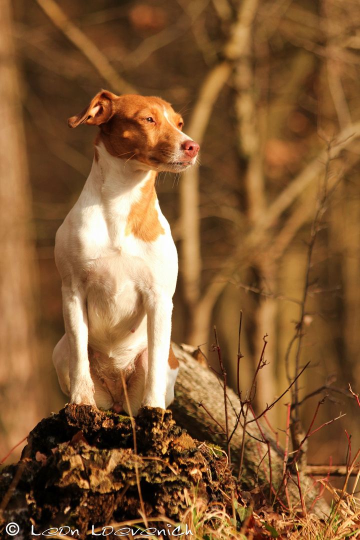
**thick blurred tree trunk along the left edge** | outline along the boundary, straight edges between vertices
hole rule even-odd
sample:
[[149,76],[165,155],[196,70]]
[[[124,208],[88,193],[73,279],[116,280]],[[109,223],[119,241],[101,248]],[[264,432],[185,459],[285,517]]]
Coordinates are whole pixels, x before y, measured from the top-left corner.
[[34,361],[35,248],[12,38],[11,6],[0,0],[0,458],[37,420]]

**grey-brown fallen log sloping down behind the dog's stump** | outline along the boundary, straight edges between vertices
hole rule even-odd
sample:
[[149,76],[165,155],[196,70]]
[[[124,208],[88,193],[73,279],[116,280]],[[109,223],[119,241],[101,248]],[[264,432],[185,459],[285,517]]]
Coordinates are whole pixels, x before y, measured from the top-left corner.
[[[189,435],[211,441],[226,450],[225,406],[220,378],[175,343],[173,351],[180,362],[175,384],[175,400],[171,406],[174,420],[185,428]],[[241,406],[238,396],[231,388],[227,388],[227,399],[228,423],[232,433]],[[200,407],[199,403],[205,408]],[[284,477],[284,452],[261,419],[259,425],[252,420],[254,417],[249,412],[247,422],[250,423],[246,427],[241,487],[252,489],[254,485],[259,485],[264,496],[268,497],[271,482],[274,497]],[[236,476],[242,448],[242,433],[240,422],[230,441],[231,465]],[[310,508],[317,498],[318,489],[311,488],[314,480],[307,476],[306,468],[301,471],[301,482],[305,503]],[[293,482],[289,482],[289,489],[300,504],[298,488]],[[323,500],[319,500],[314,504],[313,510],[323,515],[328,514],[329,508]]]

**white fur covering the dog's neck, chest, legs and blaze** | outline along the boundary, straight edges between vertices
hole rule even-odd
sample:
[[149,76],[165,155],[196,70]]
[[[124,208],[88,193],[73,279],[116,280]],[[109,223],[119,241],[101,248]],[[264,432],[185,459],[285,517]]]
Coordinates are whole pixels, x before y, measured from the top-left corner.
[[[188,139],[177,131],[176,159]],[[165,234],[152,242],[125,235],[150,167],[111,156],[103,143],[97,152],[56,235],[65,335],[53,362],[71,403],[128,411],[124,377],[131,412],[137,414],[141,404],[165,408],[174,397],[178,369],[169,369],[167,359],[178,258],[158,203]]]

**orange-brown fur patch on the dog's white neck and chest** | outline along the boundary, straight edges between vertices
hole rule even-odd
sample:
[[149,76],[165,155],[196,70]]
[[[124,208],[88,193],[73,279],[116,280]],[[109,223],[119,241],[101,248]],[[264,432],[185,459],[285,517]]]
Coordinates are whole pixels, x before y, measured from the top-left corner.
[[125,236],[130,233],[139,240],[154,242],[165,234],[165,229],[159,221],[159,214],[155,208],[157,194],[155,192],[155,172],[152,173],[146,184],[141,188],[141,197],[131,207],[127,218]]

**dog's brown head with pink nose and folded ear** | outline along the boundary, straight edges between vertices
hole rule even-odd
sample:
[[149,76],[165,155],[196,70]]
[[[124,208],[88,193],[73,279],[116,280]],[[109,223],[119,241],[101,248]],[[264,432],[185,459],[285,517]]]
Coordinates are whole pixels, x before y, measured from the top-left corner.
[[155,171],[183,171],[199,152],[199,145],[181,131],[180,114],[157,97],[116,96],[103,90],[68,124],[98,125],[96,145],[102,142],[112,156],[135,159]]

